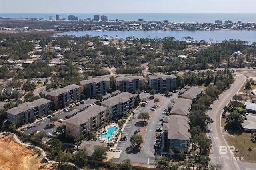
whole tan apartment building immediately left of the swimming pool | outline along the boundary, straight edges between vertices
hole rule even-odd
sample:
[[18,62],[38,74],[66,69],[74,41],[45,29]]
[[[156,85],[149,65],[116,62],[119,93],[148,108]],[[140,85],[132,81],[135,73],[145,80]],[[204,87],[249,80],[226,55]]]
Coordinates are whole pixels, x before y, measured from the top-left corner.
[[92,129],[100,128],[105,122],[106,107],[93,105],[66,120],[66,136],[86,137]]

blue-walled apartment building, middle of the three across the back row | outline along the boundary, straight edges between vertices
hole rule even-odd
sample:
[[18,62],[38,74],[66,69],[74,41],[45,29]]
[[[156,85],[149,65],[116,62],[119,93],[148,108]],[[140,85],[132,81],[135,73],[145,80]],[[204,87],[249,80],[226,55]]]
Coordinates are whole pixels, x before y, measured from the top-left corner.
[[135,92],[140,89],[144,84],[144,77],[132,76],[132,77],[116,77],[117,90],[121,92]]

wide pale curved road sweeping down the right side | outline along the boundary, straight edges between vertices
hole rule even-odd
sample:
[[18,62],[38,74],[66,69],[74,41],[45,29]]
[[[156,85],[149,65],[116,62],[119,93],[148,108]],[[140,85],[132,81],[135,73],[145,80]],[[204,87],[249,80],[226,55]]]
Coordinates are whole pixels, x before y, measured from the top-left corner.
[[228,144],[223,136],[221,128],[221,113],[223,107],[230,102],[232,96],[234,96],[242,87],[246,81],[246,77],[240,73],[236,73],[236,82],[217,100],[212,109],[209,111],[208,115],[214,121],[212,124],[208,125],[208,129],[211,130],[211,133],[208,133],[208,136],[212,139],[212,151],[213,154],[210,155],[211,163],[221,164],[222,169],[224,170],[242,170],[242,169],[255,169],[256,164],[251,164],[247,162],[241,162],[236,160],[236,154],[232,154],[229,150],[225,152],[225,148],[228,147]]

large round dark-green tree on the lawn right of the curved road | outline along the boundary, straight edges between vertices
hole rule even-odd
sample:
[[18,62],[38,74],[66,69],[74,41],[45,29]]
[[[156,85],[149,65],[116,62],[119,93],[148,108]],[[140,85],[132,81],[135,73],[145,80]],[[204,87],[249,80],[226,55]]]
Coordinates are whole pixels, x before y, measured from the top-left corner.
[[238,113],[238,111],[232,111],[226,118],[226,125],[235,128],[240,129],[241,123],[244,122],[244,117]]

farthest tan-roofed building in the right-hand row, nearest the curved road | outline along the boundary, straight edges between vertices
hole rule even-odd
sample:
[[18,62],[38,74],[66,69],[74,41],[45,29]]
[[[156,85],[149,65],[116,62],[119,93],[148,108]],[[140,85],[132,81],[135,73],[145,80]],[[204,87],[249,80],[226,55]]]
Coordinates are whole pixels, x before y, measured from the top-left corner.
[[190,99],[194,103],[200,96],[202,96],[204,89],[198,87],[190,87],[183,94],[180,95],[182,99]]

